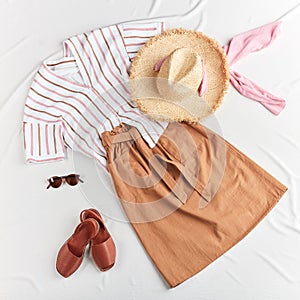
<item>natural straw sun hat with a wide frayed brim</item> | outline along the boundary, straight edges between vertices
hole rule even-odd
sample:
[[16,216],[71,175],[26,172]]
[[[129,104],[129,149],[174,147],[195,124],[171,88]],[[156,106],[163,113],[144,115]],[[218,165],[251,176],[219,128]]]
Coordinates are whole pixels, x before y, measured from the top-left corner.
[[229,84],[221,46],[201,32],[170,29],[151,38],[131,67],[130,88],[156,120],[198,122],[221,104]]

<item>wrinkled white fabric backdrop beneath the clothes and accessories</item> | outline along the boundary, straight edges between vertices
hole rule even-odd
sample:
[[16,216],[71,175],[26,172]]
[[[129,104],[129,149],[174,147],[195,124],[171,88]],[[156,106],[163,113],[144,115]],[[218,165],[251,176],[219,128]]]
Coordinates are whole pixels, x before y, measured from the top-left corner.
[[[297,0],[0,0],[0,299],[296,300],[300,296],[300,7]],[[282,34],[235,68],[285,97],[279,116],[230,87],[216,113],[223,136],[289,188],[271,213],[205,270],[169,289],[121,218],[109,177],[89,159],[26,165],[24,100],[47,57],[63,39],[123,21],[165,19],[226,43],[233,35],[284,17]],[[207,122],[210,126],[210,123]],[[212,126],[214,127],[214,126]],[[85,183],[46,190],[46,179],[78,171]],[[242,199],[241,199],[242,201]],[[95,206],[116,242],[113,269],[100,272],[88,253],[68,279],[56,254]],[[174,230],[176,230],[174,228]],[[199,237],[201,238],[201,237]]]

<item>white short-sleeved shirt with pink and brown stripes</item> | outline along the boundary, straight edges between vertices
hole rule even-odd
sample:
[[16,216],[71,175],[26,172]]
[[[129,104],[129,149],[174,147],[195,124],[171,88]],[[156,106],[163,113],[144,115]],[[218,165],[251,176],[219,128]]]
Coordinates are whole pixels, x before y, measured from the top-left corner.
[[65,148],[106,166],[101,133],[121,123],[135,126],[153,147],[167,126],[131,100],[131,61],[163,23],[118,24],[63,42],[63,58],[45,61],[28,93],[23,122],[26,161],[62,160]]

